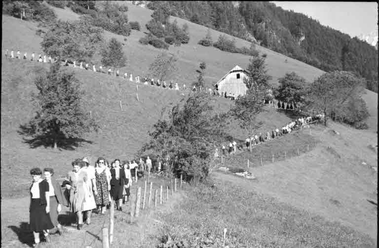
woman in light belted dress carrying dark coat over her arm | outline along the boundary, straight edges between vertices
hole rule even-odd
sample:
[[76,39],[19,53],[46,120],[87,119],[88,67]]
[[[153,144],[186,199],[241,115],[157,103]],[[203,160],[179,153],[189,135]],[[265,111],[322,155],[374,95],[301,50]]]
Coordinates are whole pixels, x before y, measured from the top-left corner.
[[86,166],[85,162],[75,160],[73,163],[73,170],[69,171],[67,177],[69,178],[70,184],[66,185],[66,188],[70,190],[70,210],[76,213],[77,218],[77,229],[80,230],[83,226],[83,204],[84,199],[88,199],[88,188],[87,172],[82,170]]

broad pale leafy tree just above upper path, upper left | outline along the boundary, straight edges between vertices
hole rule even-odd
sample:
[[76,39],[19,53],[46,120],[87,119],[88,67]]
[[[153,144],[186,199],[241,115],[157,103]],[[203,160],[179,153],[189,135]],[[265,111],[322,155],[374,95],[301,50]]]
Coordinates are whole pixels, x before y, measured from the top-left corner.
[[85,20],[61,21],[51,25],[41,41],[42,50],[50,56],[87,60],[103,41],[102,30]]

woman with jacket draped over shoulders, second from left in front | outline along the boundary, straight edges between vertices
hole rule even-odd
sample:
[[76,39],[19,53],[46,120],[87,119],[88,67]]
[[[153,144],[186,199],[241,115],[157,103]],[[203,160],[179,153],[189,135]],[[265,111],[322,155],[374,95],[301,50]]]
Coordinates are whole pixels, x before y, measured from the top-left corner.
[[61,185],[53,177],[54,170],[52,168],[44,168],[43,175],[46,182],[49,184],[50,220],[54,227],[58,229],[57,232],[59,235],[62,235],[62,226],[58,222],[58,215],[62,210],[63,205]]

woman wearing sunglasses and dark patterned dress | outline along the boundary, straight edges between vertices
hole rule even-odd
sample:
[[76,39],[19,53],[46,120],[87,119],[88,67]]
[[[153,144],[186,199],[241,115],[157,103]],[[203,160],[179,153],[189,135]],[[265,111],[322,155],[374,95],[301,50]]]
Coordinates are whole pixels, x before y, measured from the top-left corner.
[[95,167],[96,189],[97,195],[95,196],[98,213],[104,214],[107,205],[110,203],[109,191],[111,190],[111,175],[105,165],[105,159],[99,158]]

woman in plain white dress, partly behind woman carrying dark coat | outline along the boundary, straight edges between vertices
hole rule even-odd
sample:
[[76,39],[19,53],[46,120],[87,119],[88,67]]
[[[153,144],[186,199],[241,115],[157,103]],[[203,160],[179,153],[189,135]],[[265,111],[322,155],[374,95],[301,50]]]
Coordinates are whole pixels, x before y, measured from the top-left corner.
[[83,203],[83,212],[85,212],[86,221],[85,223],[89,225],[91,223],[91,213],[92,209],[96,208],[96,202],[94,194],[97,194],[96,188],[96,179],[95,179],[95,168],[93,166],[89,166],[88,158],[83,158],[83,162],[85,166],[81,168],[81,170],[87,173],[88,179],[84,186],[87,187],[88,194],[86,195]]

